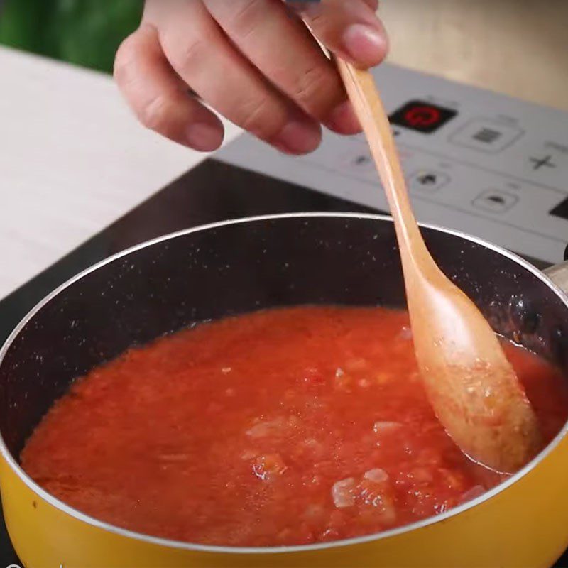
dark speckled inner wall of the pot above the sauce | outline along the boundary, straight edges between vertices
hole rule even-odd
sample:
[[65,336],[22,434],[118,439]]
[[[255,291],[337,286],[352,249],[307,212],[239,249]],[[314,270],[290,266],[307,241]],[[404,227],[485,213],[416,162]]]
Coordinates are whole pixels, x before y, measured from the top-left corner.
[[[568,307],[536,272],[424,228],[447,275],[496,331],[567,370]],[[204,320],[300,304],[405,307],[393,224],[290,215],[219,224],[114,258],[45,302],[0,361],[0,433],[14,457],[78,376],[129,346]]]

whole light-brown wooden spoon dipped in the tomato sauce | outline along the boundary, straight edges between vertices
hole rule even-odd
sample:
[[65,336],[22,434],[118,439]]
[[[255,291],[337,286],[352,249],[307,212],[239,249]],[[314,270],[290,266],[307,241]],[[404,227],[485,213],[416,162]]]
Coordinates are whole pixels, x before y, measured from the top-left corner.
[[426,248],[371,73],[342,60],[337,65],[391,207],[416,358],[432,408],[471,459],[517,471],[542,447],[535,413],[496,334]]

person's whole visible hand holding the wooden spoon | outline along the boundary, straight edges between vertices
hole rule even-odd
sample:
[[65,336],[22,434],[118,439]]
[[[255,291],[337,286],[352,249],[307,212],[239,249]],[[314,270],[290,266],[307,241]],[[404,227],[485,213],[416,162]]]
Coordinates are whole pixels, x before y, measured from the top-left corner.
[[142,124],[190,148],[222,143],[222,123],[203,102],[280,151],[307,153],[320,124],[343,134],[360,127],[300,16],[329,50],[372,67],[387,50],[376,8],[377,0],[146,0],[114,75]]

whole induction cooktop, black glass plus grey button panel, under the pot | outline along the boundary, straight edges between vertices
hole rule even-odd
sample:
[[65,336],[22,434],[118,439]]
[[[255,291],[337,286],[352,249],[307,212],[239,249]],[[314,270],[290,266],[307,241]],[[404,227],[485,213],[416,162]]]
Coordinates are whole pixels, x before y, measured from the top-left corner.
[[[568,114],[383,65],[377,72],[422,222],[476,234],[539,268],[568,242]],[[243,135],[0,300],[0,343],[43,296],[129,246],[257,214],[384,212],[361,136],[302,158]],[[16,564],[0,520],[0,568]],[[568,552],[555,564],[568,567]]]

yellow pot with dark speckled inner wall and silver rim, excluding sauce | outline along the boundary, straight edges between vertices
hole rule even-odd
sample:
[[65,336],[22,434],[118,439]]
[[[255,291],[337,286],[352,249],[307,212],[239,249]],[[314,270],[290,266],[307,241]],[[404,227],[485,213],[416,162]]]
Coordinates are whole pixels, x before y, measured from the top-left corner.
[[[444,271],[456,276],[499,332],[520,333],[531,349],[567,364],[568,300],[551,280],[490,244],[423,230]],[[555,562],[568,545],[566,427],[505,484],[448,513],[378,535],[271,549],[192,545],[112,527],[65,506],[18,466],[15,456],[26,437],[72,378],[132,342],[275,304],[403,305],[394,243],[390,220],[368,215],[294,214],[215,224],[111,258],[35,307],[0,351],[0,489],[23,564],[479,568]],[[370,256],[371,266],[362,261]]]

